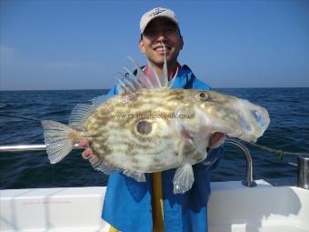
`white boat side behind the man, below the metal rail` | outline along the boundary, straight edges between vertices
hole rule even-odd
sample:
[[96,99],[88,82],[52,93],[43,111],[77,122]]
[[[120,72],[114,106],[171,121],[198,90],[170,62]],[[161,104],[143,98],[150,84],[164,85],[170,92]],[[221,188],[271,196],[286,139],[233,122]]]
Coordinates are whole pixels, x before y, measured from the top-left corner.
[[[104,197],[105,187],[1,190],[0,231],[105,232]],[[309,191],[214,182],[208,222],[210,232],[308,232]]]

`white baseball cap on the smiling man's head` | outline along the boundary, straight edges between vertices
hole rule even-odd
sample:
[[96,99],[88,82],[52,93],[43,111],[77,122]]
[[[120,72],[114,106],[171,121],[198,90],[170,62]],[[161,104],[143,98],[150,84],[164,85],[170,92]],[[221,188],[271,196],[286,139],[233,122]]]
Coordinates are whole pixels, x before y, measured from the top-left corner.
[[174,11],[162,7],[156,7],[148,12],[146,12],[142,18],[141,22],[139,23],[139,27],[141,29],[141,34],[144,33],[146,26],[152,21],[154,18],[157,17],[167,17],[172,22],[174,22],[175,25],[179,28],[178,20],[176,15],[174,15]]

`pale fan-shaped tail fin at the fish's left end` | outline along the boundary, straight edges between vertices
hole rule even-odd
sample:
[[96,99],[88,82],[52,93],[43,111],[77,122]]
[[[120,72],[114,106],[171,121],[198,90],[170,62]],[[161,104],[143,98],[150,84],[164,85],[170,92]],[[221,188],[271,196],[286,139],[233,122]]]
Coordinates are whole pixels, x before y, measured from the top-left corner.
[[46,152],[51,164],[55,164],[67,156],[73,146],[72,134],[76,132],[70,126],[51,120],[41,122],[44,128]]

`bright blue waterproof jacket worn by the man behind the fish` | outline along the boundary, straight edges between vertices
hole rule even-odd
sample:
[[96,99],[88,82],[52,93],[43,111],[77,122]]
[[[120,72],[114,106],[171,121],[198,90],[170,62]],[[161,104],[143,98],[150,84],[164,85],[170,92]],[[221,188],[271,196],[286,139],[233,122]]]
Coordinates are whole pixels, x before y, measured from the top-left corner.
[[[182,66],[175,77],[173,88],[209,90],[198,80],[188,66]],[[112,88],[109,96],[117,95]],[[164,232],[207,231],[207,201],[210,196],[209,170],[217,165],[223,147],[211,149],[204,162],[194,168],[193,187],[184,194],[173,193],[175,169],[162,175]],[[122,232],[151,232],[153,217],[151,205],[152,174],[145,174],[146,182],[137,182],[123,174],[109,177],[102,218]]]

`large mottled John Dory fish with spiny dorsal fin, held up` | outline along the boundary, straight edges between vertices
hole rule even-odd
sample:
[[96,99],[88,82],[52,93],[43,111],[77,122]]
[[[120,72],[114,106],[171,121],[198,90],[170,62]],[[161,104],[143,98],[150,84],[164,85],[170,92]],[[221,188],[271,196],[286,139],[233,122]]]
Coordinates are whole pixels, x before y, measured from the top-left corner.
[[269,125],[267,110],[244,99],[172,89],[166,62],[162,79],[154,69],[155,78],[150,79],[135,66],[136,75],[128,71],[131,77],[118,81],[118,96],[99,96],[89,105],[75,106],[69,126],[42,122],[52,164],[86,138],[96,155],[91,160],[96,170],[145,181],[145,173],[177,168],[174,193],[184,193],[194,183],[192,166],[206,158],[214,133],[254,142]]

